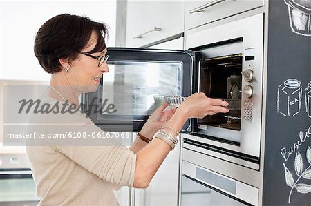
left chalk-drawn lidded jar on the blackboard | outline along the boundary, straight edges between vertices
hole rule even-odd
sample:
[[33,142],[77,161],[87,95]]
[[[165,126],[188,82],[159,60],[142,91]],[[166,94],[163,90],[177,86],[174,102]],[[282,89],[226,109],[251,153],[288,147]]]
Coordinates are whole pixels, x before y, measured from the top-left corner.
[[278,87],[277,112],[295,116],[301,108],[302,86],[297,79],[288,79]]

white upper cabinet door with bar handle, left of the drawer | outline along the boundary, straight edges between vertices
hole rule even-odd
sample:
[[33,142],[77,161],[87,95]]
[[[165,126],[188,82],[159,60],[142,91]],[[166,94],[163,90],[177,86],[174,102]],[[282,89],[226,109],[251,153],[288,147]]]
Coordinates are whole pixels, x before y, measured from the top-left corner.
[[182,33],[184,11],[185,1],[128,1],[126,47],[142,47]]

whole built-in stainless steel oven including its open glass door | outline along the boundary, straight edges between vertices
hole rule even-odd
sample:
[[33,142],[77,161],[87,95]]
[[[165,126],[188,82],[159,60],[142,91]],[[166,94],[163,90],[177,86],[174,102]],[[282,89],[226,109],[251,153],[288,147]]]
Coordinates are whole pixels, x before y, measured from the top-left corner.
[[[263,14],[189,32],[189,50],[108,48],[113,78],[84,96],[102,105],[105,87],[129,86],[132,110],[122,115],[91,113],[103,130],[139,131],[160,103],[159,96],[205,92],[229,102],[230,112],[192,119],[182,128],[183,147],[252,169],[259,168],[263,76]],[[105,74],[106,75],[106,74]],[[110,87],[111,88],[111,87]],[[111,89],[110,89],[111,90]],[[113,95],[122,95],[115,89]],[[115,96],[113,96],[114,98]],[[133,127],[132,127],[133,126]],[[124,127],[122,127],[124,128]]]

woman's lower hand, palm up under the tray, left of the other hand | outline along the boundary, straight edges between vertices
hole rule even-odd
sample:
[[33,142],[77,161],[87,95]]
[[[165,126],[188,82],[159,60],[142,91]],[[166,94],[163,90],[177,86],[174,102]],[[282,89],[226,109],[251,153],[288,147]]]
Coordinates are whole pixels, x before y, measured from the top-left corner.
[[157,110],[155,110],[151,116],[149,116],[147,122],[142,127],[140,134],[146,136],[151,139],[158,130],[160,130],[164,125],[171,119],[171,116],[176,111],[176,108],[171,110],[165,110],[167,108],[167,104],[164,103]]

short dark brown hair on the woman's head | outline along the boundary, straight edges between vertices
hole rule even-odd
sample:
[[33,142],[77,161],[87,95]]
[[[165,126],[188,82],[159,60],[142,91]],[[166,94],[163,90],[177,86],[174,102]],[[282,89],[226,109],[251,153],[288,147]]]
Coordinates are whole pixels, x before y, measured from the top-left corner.
[[108,28],[104,23],[71,14],[60,14],[49,19],[41,25],[35,38],[34,52],[39,64],[49,74],[61,71],[59,58],[68,58],[69,61],[77,59],[93,31],[97,34],[97,44],[88,53],[102,52],[108,38]]

